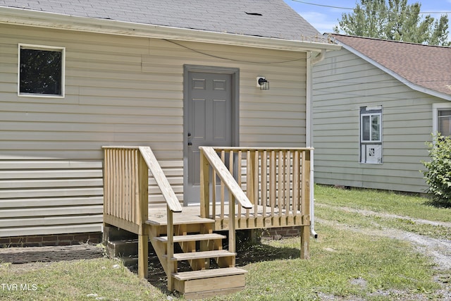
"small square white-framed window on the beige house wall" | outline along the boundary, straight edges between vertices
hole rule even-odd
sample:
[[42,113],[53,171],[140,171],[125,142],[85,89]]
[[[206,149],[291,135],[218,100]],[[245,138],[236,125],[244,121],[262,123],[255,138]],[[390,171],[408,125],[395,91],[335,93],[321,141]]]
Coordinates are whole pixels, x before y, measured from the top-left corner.
[[66,49],[19,44],[18,95],[64,97]]

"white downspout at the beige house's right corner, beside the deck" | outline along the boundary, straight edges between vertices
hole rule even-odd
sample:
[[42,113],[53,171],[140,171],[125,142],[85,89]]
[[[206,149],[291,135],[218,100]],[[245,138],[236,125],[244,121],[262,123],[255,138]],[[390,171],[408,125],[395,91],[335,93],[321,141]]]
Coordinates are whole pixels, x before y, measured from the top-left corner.
[[[313,147],[313,82],[312,82],[312,68],[314,64],[323,61],[326,56],[326,49],[321,49],[321,53],[314,58],[311,56],[314,52],[307,51],[307,103],[306,103],[306,146]],[[315,198],[314,198],[314,152],[311,151],[310,156],[310,235],[313,238],[318,238],[318,233],[315,232]]]

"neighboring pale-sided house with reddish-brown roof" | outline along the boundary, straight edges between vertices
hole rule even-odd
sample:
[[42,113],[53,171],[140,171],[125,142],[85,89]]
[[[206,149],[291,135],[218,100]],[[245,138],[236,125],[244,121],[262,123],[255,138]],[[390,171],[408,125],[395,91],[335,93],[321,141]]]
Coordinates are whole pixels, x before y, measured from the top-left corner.
[[451,135],[451,48],[329,35],[314,66],[315,182],[425,192],[431,133]]

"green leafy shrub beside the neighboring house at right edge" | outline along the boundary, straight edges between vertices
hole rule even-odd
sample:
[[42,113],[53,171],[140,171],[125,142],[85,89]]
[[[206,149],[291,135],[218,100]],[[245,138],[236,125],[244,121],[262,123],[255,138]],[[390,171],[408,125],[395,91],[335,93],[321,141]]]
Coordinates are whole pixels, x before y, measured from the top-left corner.
[[451,204],[451,137],[438,133],[433,136],[433,143],[426,142],[429,147],[430,162],[422,162],[428,171],[423,171],[428,192],[435,199]]

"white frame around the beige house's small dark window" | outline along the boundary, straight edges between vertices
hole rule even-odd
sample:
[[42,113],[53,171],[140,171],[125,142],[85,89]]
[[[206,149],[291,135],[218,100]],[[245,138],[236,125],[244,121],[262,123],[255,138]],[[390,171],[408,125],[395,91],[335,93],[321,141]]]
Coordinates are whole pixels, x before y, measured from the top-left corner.
[[[20,49],[61,51],[61,94],[20,93]],[[18,97],[64,98],[66,96],[66,47],[19,43],[18,44],[17,94],[18,94]]]

